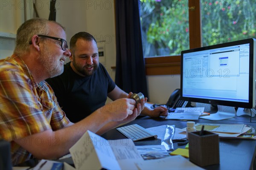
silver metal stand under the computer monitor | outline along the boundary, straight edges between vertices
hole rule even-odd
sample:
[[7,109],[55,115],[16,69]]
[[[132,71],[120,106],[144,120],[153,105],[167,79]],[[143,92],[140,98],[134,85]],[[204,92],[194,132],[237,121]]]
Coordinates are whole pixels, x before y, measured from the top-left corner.
[[204,107],[205,112],[209,112],[209,116],[200,116],[201,119],[208,120],[225,120],[231,119],[236,116],[236,110],[234,107],[217,105],[213,107],[210,104],[197,103],[196,107]]

